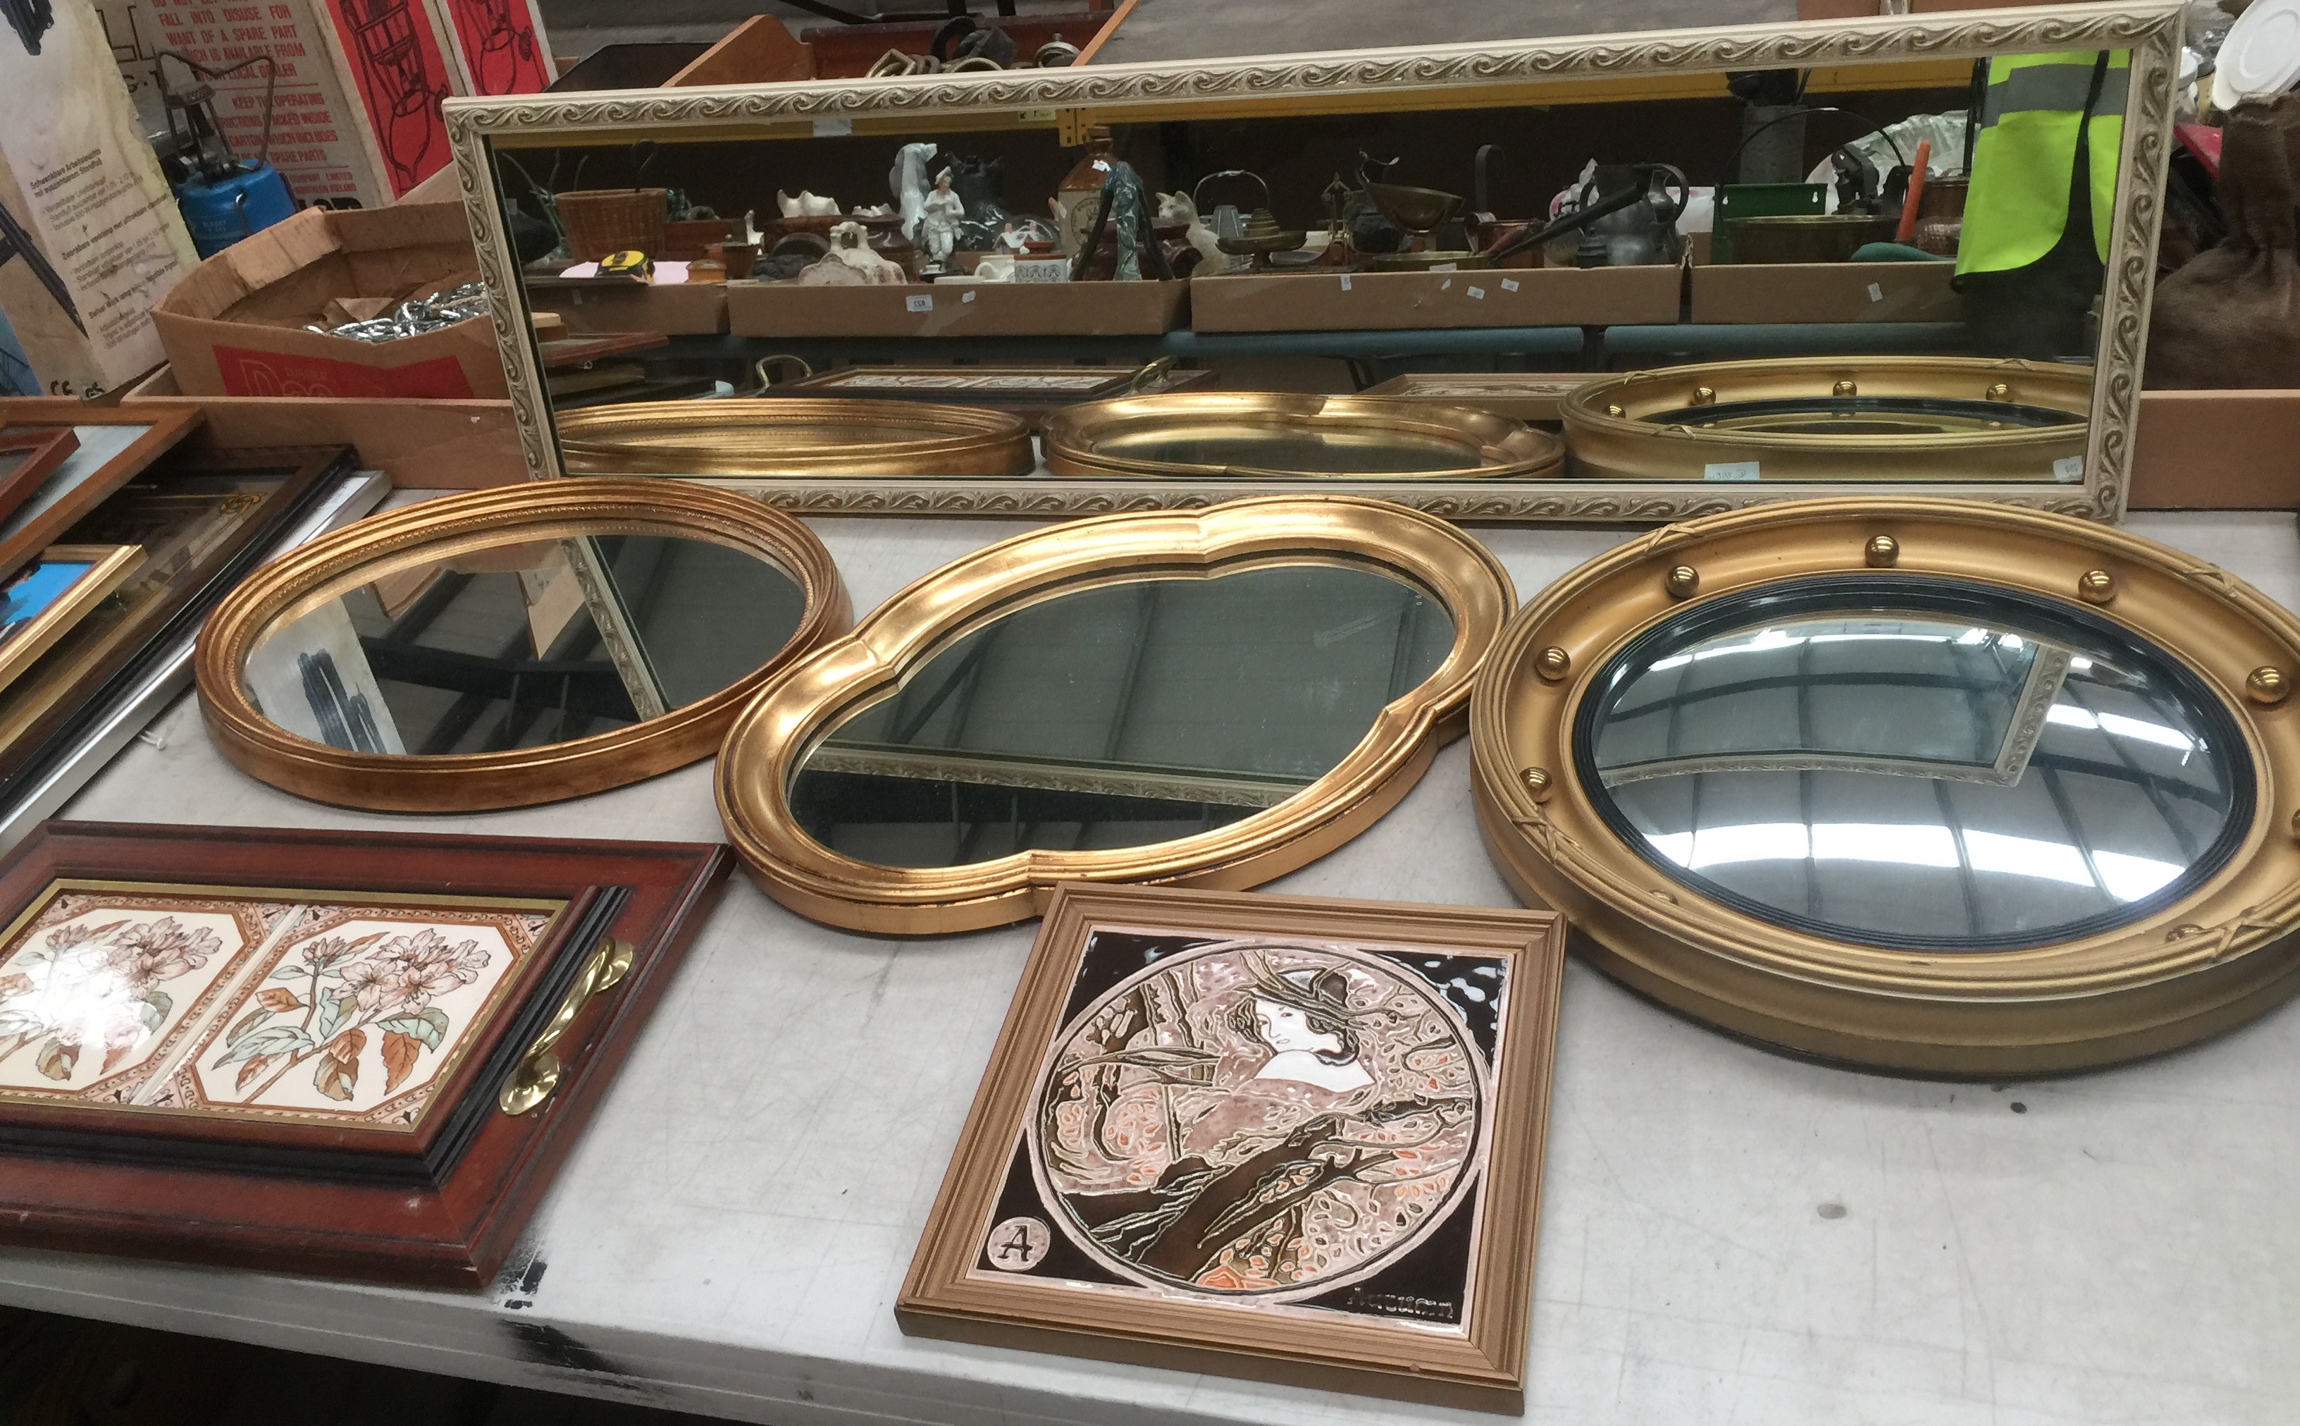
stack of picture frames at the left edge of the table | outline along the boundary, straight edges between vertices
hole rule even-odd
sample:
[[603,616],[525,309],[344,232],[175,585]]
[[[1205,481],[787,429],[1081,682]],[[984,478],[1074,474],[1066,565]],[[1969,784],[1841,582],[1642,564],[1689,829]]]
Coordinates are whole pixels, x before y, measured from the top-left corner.
[[347,446],[214,451],[198,412],[0,400],[0,849],[191,683],[251,568],[356,520]]

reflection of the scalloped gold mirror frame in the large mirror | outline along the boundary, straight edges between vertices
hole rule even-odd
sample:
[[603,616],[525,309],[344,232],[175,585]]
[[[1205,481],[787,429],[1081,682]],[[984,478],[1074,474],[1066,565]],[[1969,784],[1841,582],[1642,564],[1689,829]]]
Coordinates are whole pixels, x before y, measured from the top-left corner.
[[1564,444],[1523,421],[1380,396],[1129,396],[1065,407],[1042,437],[1056,476],[1525,481],[1564,465]]

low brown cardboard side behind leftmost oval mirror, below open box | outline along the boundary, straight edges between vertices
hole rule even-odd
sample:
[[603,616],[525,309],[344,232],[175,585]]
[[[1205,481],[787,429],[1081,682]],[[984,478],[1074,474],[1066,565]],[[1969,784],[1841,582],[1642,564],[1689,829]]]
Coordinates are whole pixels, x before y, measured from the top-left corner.
[[313,400],[297,396],[184,396],[163,366],[138,382],[124,409],[193,407],[207,421],[191,444],[356,446],[366,469],[407,490],[478,490],[527,478],[508,400]]

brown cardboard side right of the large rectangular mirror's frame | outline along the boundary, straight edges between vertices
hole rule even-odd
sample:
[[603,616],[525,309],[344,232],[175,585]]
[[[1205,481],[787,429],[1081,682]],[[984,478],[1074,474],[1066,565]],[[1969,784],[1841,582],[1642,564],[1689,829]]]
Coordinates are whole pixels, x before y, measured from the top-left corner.
[[2300,508],[2300,391],[2141,391],[2125,504]]

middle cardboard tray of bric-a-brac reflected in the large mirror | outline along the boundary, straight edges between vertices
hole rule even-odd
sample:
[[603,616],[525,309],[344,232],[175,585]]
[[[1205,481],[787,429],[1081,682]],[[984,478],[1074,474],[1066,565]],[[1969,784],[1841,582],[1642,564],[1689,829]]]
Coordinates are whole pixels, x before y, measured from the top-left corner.
[[1424,331],[1677,322],[1677,264],[1191,278],[1194,331]]

